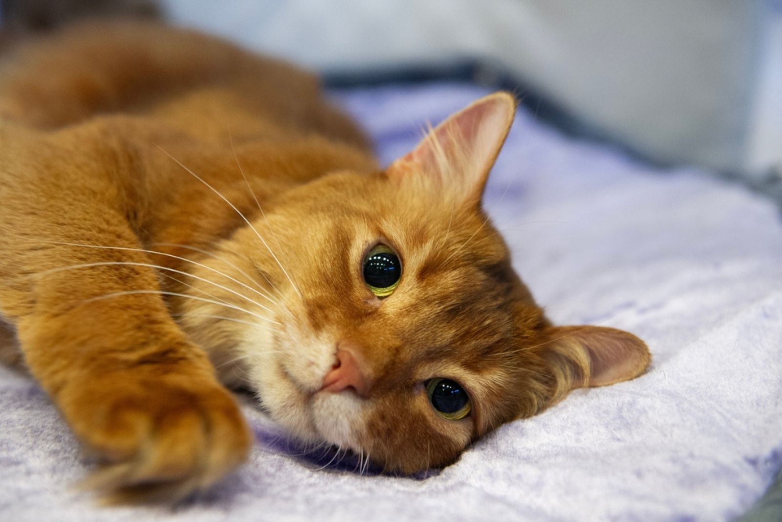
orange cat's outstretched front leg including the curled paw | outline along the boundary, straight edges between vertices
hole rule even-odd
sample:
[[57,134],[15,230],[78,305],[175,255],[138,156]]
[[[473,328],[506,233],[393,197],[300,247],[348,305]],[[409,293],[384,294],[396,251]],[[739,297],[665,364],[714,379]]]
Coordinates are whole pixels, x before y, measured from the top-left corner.
[[124,166],[77,138],[0,158],[0,313],[30,373],[105,462],[92,484],[117,499],[175,499],[242,463],[251,438],[171,319],[147,256],[74,246],[141,246],[111,177]]

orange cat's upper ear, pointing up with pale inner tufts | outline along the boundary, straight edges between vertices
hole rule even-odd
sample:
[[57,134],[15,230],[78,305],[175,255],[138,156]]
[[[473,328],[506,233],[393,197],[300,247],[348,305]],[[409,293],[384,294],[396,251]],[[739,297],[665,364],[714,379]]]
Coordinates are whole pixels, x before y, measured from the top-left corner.
[[386,173],[397,180],[428,177],[436,191],[478,204],[515,112],[515,98],[507,92],[481,98],[430,130]]

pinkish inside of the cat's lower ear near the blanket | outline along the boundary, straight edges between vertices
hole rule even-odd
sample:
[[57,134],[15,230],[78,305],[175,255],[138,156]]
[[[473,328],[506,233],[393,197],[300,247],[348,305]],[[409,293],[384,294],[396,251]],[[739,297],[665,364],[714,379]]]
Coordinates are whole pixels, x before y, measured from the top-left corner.
[[607,327],[558,328],[586,349],[590,359],[590,386],[604,386],[637,377],[651,360],[644,341],[629,332]]

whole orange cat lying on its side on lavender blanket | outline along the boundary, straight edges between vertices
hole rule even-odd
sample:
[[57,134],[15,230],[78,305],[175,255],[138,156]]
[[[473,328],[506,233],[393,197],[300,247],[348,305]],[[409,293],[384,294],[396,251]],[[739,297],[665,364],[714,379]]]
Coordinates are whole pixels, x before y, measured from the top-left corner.
[[633,334],[547,320],[481,208],[515,110],[481,98],[384,169],[317,78],[203,34],[91,23],[5,55],[0,331],[102,460],[89,484],[179,499],[235,470],[228,388],[411,474],[642,374]]

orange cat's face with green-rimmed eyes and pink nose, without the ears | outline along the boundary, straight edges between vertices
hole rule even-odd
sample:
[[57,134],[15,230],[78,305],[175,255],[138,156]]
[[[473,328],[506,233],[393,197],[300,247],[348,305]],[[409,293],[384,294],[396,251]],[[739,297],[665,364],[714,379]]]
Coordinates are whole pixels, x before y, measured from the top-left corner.
[[[523,377],[515,364],[535,366],[517,352],[541,342],[544,326],[482,213],[456,209],[451,217],[449,202],[411,198],[411,190],[381,173],[341,173],[292,195],[297,210],[306,208],[300,241],[279,257],[301,296],[283,293],[275,352],[248,368],[273,413],[298,412],[300,435],[404,471],[447,463],[515,417]],[[394,273],[388,281],[364,270],[377,253]],[[339,361],[340,350],[353,360]],[[346,376],[350,388],[321,391],[335,363],[361,375]],[[461,387],[454,400],[468,414],[437,411],[435,379]],[[278,399],[265,388],[286,392]]]

